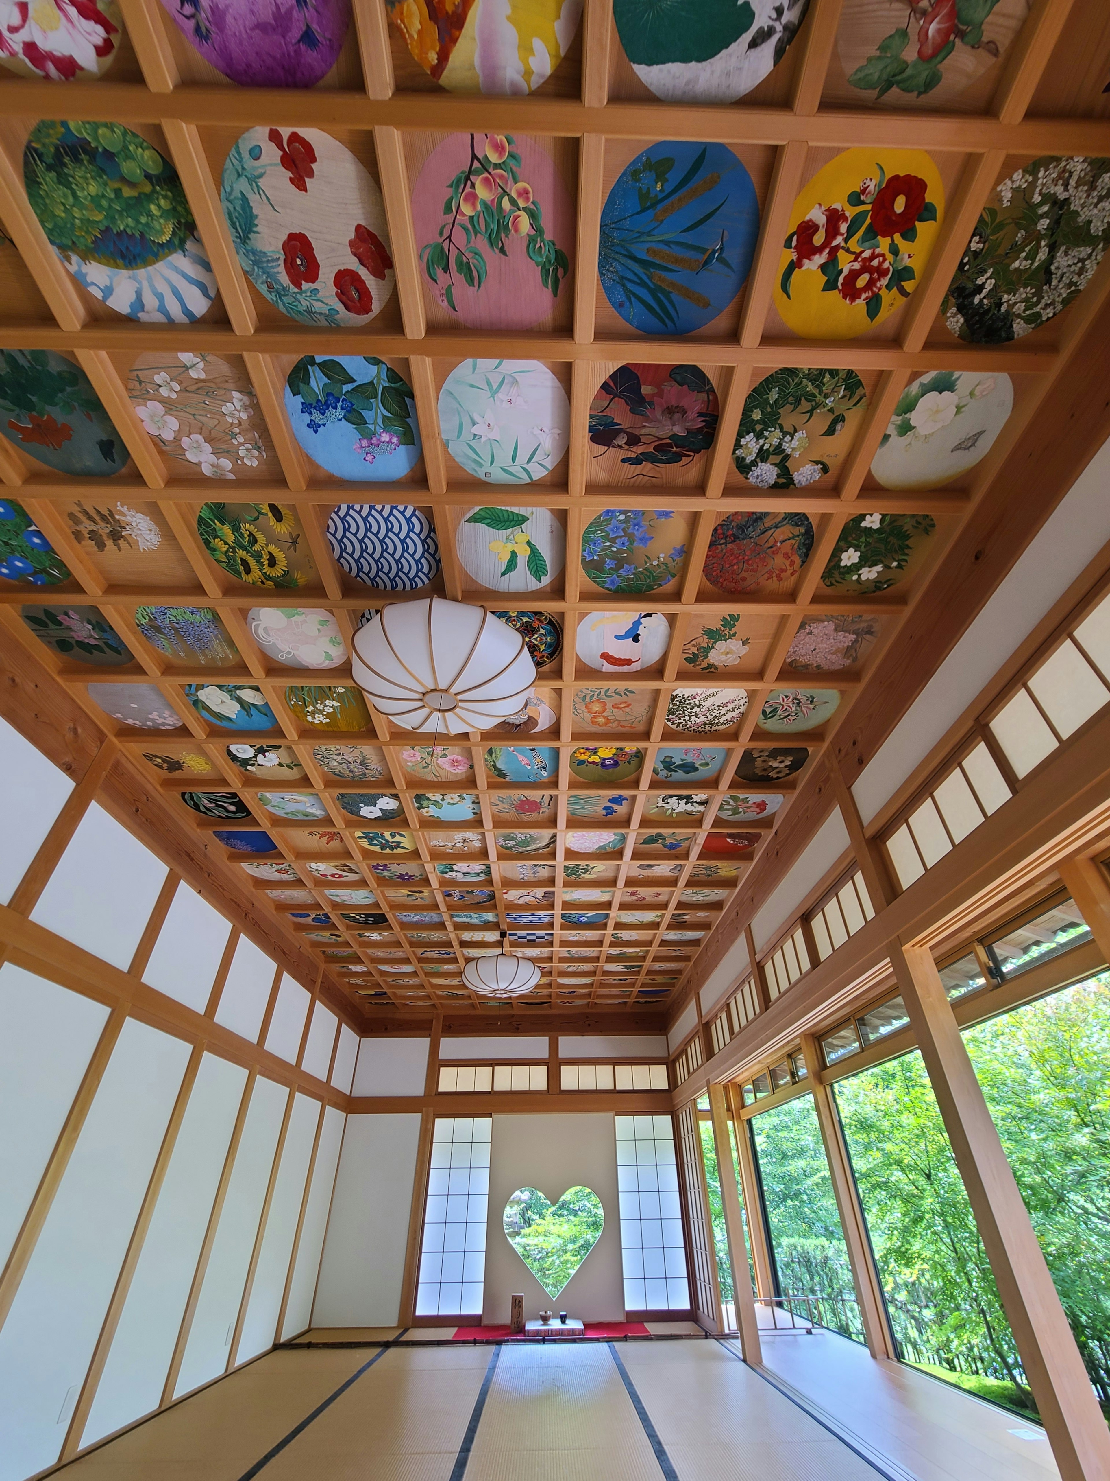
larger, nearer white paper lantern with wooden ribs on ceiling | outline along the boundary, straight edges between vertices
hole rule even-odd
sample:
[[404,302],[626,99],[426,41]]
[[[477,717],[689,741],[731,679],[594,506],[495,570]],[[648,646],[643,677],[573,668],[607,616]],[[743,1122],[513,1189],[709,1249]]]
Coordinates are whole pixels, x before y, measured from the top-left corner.
[[443,597],[382,607],[354,647],[355,683],[403,730],[487,730],[518,715],[536,683],[519,632]]

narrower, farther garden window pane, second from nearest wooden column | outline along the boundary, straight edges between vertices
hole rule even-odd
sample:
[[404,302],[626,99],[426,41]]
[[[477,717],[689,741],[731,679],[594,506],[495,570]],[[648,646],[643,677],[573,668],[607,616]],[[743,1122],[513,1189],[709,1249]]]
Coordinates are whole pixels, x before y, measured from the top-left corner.
[[799,1317],[863,1340],[848,1250],[813,1096],[752,1117],[776,1294]]

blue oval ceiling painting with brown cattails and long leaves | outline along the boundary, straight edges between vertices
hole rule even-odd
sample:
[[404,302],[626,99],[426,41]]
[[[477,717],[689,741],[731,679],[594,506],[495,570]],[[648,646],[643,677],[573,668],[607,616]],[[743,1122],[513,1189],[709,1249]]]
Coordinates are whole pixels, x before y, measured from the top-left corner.
[[642,333],[688,335],[743,287],[759,234],[752,176],[724,144],[653,144],[628,164],[601,213],[598,274]]

